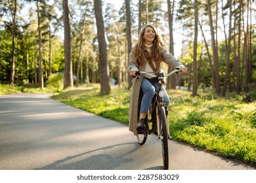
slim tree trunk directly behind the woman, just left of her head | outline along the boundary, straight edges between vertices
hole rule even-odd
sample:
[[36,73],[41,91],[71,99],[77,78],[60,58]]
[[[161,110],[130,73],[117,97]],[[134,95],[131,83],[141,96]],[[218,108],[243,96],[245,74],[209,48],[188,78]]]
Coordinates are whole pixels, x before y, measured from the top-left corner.
[[[126,9],[126,39],[127,39],[127,64],[129,62],[129,54],[131,53],[131,49],[132,49],[132,42],[131,42],[131,8],[130,8],[130,1],[129,0],[125,0],[125,9]],[[129,73],[127,73],[128,75],[128,88],[131,88],[131,76],[129,75]]]

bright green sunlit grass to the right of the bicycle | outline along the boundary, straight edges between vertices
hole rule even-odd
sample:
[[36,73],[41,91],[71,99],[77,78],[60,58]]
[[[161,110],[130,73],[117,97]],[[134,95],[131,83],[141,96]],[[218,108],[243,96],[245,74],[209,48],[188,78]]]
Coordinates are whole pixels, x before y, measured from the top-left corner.
[[184,99],[169,112],[173,139],[256,164],[255,101],[244,103],[237,97]]

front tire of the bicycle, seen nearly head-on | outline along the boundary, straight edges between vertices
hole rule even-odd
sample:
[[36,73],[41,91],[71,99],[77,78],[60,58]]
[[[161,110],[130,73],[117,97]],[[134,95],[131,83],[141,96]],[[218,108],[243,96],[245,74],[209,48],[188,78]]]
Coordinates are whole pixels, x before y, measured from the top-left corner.
[[165,108],[161,107],[160,110],[160,139],[162,146],[162,154],[163,154],[163,169],[169,169],[169,153],[168,153],[168,136],[166,129],[166,116],[165,116]]

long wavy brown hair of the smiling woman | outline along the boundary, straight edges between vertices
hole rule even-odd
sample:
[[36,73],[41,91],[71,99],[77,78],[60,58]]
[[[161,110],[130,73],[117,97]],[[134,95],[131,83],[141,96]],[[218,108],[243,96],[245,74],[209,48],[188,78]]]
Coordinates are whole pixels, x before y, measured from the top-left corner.
[[146,24],[146,25],[144,25],[144,27],[142,27],[140,34],[139,34],[138,41],[136,42],[135,46],[133,47],[133,50],[131,53],[135,56],[138,63],[143,63],[145,60],[148,60],[148,55],[146,55],[144,53],[144,50],[145,50],[144,33],[145,33],[146,27],[152,27],[152,29],[154,30],[154,32],[156,34],[154,41],[153,41],[152,54],[150,54],[151,56],[149,58],[154,58],[154,60],[156,62],[161,62],[161,61],[163,61],[162,50],[166,49],[166,45],[163,42],[163,40],[161,39],[161,36],[158,33],[158,31],[156,30],[156,28],[154,27],[154,25]]

